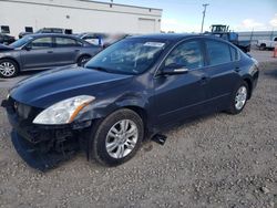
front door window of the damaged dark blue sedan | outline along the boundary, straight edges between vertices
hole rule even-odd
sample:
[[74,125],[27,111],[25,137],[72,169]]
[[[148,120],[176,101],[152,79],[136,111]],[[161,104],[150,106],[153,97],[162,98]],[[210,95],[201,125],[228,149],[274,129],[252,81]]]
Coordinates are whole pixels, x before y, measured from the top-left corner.
[[204,61],[199,42],[191,41],[181,43],[170,53],[164,65],[179,65],[188,70],[202,67]]

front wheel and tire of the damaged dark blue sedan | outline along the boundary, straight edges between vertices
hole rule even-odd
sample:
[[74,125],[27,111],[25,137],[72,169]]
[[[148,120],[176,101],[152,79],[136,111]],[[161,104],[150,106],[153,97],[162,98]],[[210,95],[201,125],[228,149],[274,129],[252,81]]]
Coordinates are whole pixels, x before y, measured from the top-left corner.
[[[130,134],[129,137],[120,133],[123,126],[126,126],[125,134]],[[105,166],[117,166],[131,159],[138,150],[144,136],[142,118],[126,108],[98,121],[93,128],[90,156]]]

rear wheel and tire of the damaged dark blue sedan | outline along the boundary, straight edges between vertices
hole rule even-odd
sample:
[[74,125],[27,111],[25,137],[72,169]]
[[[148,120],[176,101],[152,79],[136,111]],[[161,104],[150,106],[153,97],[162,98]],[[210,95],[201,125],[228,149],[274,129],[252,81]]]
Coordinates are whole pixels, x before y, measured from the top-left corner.
[[247,103],[249,93],[248,84],[243,81],[232,93],[229,108],[227,112],[233,115],[239,114]]

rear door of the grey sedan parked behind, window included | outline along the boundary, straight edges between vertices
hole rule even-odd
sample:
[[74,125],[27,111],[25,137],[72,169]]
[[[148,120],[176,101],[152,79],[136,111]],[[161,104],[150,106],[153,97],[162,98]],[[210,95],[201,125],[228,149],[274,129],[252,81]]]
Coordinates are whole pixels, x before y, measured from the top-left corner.
[[54,62],[55,65],[68,65],[76,63],[81,52],[82,43],[66,37],[54,38]]

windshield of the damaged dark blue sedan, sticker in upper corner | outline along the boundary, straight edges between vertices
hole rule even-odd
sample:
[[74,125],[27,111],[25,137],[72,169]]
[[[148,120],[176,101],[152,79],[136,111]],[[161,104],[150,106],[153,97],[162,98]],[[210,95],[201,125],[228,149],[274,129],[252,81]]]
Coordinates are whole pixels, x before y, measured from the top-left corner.
[[164,48],[164,42],[125,39],[96,54],[85,67],[111,73],[140,74],[155,63]]

